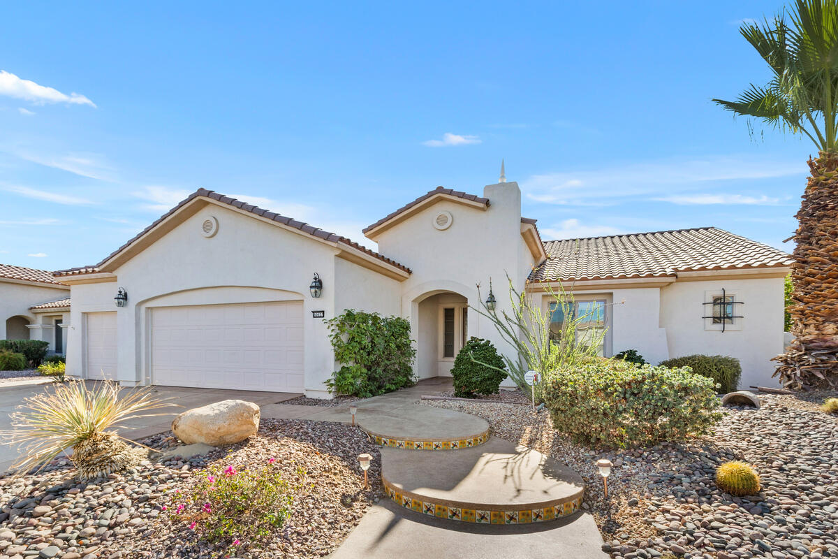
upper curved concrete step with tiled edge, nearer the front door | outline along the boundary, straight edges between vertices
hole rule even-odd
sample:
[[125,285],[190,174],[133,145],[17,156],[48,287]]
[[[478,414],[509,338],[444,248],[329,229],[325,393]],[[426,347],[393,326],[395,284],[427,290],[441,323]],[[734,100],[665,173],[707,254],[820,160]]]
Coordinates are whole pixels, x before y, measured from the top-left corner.
[[355,421],[376,444],[400,450],[456,450],[489,440],[484,419],[436,407],[359,409]]

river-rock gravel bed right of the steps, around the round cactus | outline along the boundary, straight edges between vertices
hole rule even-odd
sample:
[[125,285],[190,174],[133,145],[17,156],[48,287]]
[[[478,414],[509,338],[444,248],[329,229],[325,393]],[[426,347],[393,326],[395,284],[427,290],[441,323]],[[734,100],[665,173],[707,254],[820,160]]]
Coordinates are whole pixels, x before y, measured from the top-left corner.
[[[549,453],[586,482],[583,508],[597,520],[614,559],[838,557],[838,417],[818,409],[826,392],[760,394],[762,407],[726,407],[712,436],[652,448],[597,450],[552,429],[546,411],[463,401],[422,401],[472,413],[494,436]],[[614,463],[608,500],[594,462]],[[751,463],[757,495],[734,497],[715,484],[716,467]]]

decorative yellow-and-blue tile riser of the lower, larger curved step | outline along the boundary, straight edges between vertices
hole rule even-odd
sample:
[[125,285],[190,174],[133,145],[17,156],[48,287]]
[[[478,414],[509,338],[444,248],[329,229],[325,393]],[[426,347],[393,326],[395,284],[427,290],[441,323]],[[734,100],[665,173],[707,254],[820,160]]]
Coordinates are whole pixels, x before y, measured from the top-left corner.
[[577,498],[568,500],[565,503],[536,509],[478,510],[442,505],[441,503],[408,497],[401,494],[399,489],[387,483],[385,479],[382,479],[381,482],[384,485],[387,496],[396,505],[413,510],[422,515],[435,516],[447,520],[458,520],[460,522],[471,522],[473,524],[535,524],[538,522],[558,520],[565,516],[570,516],[579,510],[582,507],[583,497],[580,494]]

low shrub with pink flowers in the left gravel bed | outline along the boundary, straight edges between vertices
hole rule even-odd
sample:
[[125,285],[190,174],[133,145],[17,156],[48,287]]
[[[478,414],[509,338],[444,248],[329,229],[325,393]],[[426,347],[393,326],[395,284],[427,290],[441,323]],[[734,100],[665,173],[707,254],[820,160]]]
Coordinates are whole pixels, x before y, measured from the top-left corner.
[[204,541],[258,549],[276,539],[291,516],[306,472],[297,468],[296,479],[288,481],[271,458],[261,468],[215,464],[196,475],[194,487],[174,494],[170,519],[186,523]]

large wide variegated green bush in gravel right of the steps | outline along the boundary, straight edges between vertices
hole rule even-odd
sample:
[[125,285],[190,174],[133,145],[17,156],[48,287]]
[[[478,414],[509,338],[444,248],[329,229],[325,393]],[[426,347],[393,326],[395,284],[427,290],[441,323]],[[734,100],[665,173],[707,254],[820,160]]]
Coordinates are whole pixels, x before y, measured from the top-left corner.
[[712,380],[619,360],[551,371],[544,401],[557,431],[617,448],[702,435],[722,417]]

